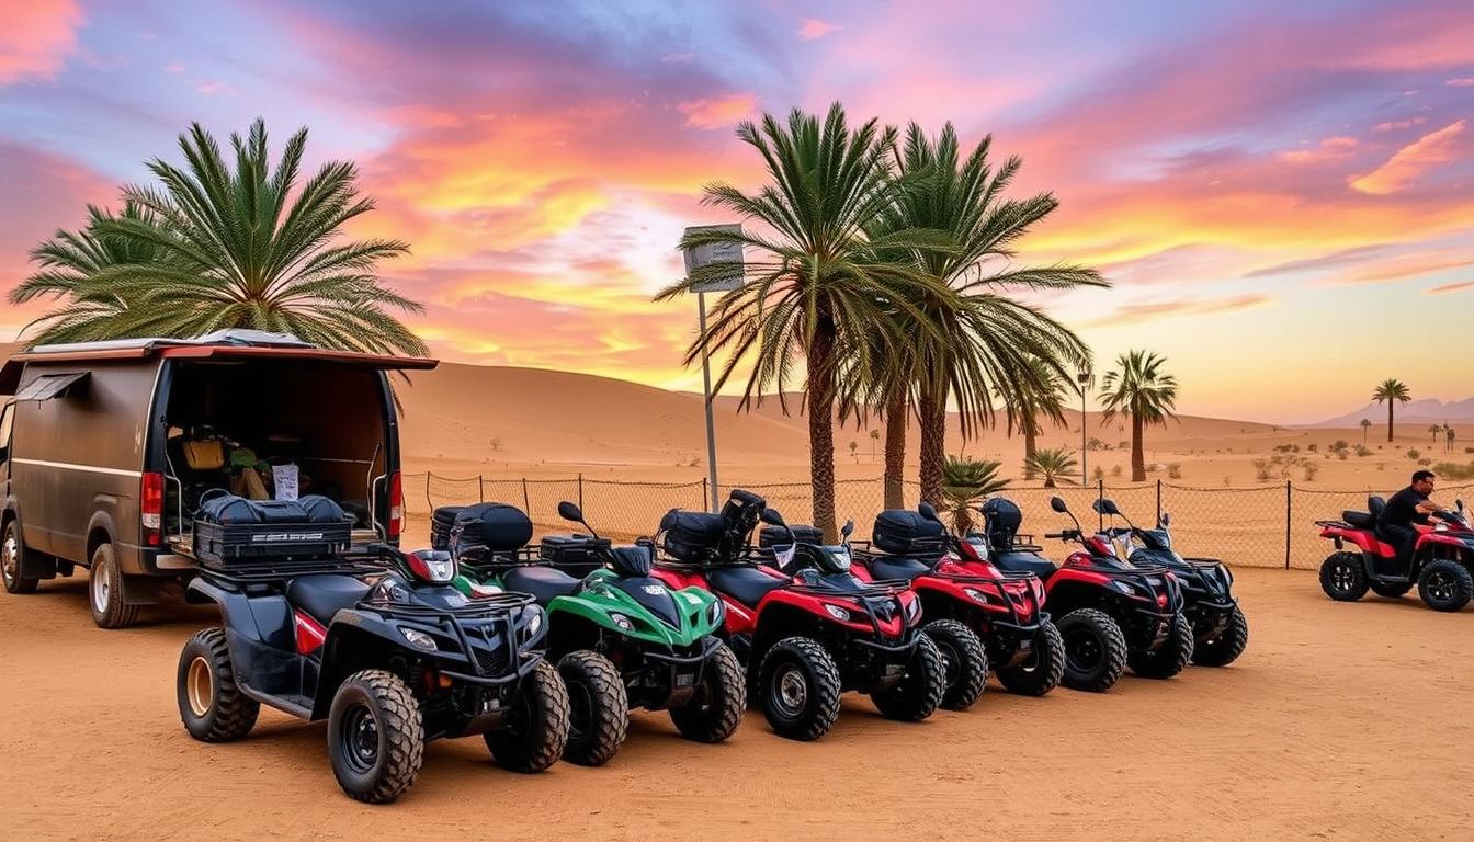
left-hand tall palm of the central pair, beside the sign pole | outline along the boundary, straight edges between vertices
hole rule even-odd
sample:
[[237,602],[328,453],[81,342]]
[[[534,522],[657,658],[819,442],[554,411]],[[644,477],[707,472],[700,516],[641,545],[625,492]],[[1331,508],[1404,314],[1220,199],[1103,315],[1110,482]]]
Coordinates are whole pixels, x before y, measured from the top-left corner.
[[[752,195],[730,184],[709,184],[702,201],[736,211],[744,221],[756,220],[766,230],[700,229],[682,237],[681,248],[740,246],[756,252],[758,260],[706,265],[662,290],[656,301],[741,273],[741,285],[718,299],[706,332],[687,349],[685,363],[694,363],[703,349],[725,354],[716,389],[749,363],[740,404],[747,410],[766,386],[777,388],[781,400],[802,358],[814,525],[833,541],[839,534],[834,408],[840,366],[879,367],[873,358],[877,342],[904,347],[909,339],[886,313],[912,310],[909,288],[929,283],[880,257],[884,249],[912,248],[918,242],[912,233],[871,236],[865,230],[890,202],[895,131],[880,130],[874,119],[850,130],[843,106],[834,103],[822,122],[794,109],[787,125],[764,115],[761,124],[741,122],[737,137],[762,155],[769,183]],[[945,288],[936,292],[948,293]],[[923,324],[921,330],[936,329]]]

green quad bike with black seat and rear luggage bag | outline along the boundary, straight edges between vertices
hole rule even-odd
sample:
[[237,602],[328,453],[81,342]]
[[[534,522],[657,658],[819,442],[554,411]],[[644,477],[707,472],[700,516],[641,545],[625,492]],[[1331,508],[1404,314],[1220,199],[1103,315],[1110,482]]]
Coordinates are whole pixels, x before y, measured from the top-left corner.
[[[569,693],[563,759],[600,765],[625,739],[631,708],[669,711],[681,736],[719,743],[741,723],[747,684],[741,664],[713,634],[725,608],[700,588],[672,590],[650,577],[654,546],[615,547],[573,503],[559,515],[590,535],[544,538],[541,552],[461,559],[463,593],[486,587],[532,594],[548,615],[548,658]],[[563,569],[601,565],[584,578]],[[582,565],[582,568],[581,568]]]

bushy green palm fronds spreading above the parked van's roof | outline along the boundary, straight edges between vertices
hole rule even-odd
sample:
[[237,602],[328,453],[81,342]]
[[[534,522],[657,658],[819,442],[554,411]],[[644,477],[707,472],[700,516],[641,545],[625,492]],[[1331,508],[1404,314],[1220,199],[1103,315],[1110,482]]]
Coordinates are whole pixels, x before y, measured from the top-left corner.
[[[299,183],[307,130],[287,140],[273,167],[261,119],[230,142],[233,168],[215,139],[192,124],[178,139],[184,168],[149,162],[162,187],[124,187],[139,212],[125,205],[122,215],[99,220],[94,234],[152,260],[80,273],[68,304],[43,321],[90,338],[251,327],[329,348],[425,354],[425,342],[386,313],[422,307],[374,274],[377,261],[408,246],[386,239],[330,245],[345,223],[373,209],[358,196],[357,167],[329,162]],[[108,299],[121,307],[99,311],[96,302]]]

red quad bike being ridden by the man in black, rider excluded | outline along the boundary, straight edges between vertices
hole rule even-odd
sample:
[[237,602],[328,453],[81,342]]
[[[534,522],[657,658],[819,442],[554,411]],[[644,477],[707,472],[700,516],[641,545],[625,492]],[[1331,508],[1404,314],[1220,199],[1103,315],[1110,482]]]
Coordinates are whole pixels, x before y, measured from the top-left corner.
[[[1316,521],[1321,537],[1335,541],[1335,552],[1321,563],[1321,590],[1337,602],[1355,602],[1368,588],[1396,599],[1418,585],[1418,596],[1433,610],[1459,610],[1474,597],[1474,528],[1464,501],[1453,512],[1437,512],[1436,525],[1418,526],[1411,563],[1377,537],[1377,519],[1387,503],[1366,498],[1369,512],[1341,512],[1340,521]],[[1352,544],[1355,550],[1347,549]]]

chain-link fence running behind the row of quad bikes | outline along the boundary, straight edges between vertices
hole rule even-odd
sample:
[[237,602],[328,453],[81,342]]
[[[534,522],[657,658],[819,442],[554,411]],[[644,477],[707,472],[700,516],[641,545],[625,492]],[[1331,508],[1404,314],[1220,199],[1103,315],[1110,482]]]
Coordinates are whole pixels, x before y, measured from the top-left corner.
[[[722,485],[746,488],[797,523],[811,519],[814,494],[809,482]],[[1390,491],[1390,490],[1387,490]],[[1386,491],[1384,491],[1386,493]],[[537,534],[567,532],[557,504],[572,500],[584,509],[601,534],[631,540],[656,531],[671,509],[705,509],[710,490],[705,479],[691,482],[618,482],[609,479],[501,479],[489,476],[448,478],[436,473],[404,475],[405,506],[411,538],[429,532],[427,519],[439,506],[500,501],[517,506],[532,518]],[[1138,526],[1150,526],[1163,512],[1172,513],[1172,535],[1184,556],[1216,557],[1232,566],[1316,569],[1331,552],[1315,521],[1334,519],[1341,510],[1366,509],[1368,491],[1331,491],[1285,482],[1253,488],[1195,488],[1157,481],[1138,485],[1063,485],[1041,488],[1019,485],[1001,493],[1023,512],[1023,532],[1038,541],[1044,532],[1069,526],[1066,515],[1049,507],[1061,497],[1085,528],[1103,525],[1091,504],[1108,497]],[[1474,484],[1445,487],[1440,500],[1474,497]],[[907,507],[915,507],[920,487],[904,487]],[[876,515],[884,509],[884,490],[877,479],[840,479],[834,484],[834,510],[840,522],[855,521],[855,537],[868,538]],[[945,506],[939,506],[945,509]],[[952,513],[943,510],[943,518]],[[1049,557],[1063,557],[1064,547],[1045,544]]]

